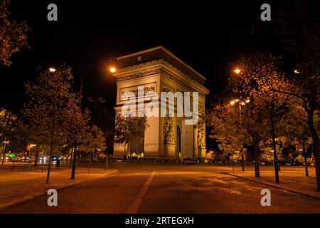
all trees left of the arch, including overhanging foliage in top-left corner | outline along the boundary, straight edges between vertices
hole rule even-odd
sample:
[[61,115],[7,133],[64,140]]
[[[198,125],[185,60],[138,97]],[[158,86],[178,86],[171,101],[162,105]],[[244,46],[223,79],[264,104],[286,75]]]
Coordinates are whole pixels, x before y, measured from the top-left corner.
[[[4,66],[11,66],[11,56],[22,47],[29,48],[27,32],[30,28],[26,21],[11,19],[9,4],[10,0],[0,3],[0,63]],[[24,103],[21,115],[17,117],[1,108],[0,140],[10,142],[9,149],[21,153],[31,150],[28,148],[31,142],[36,143],[35,166],[40,151],[50,156],[72,149],[71,179],[74,179],[78,150],[89,153],[91,161],[93,152],[104,152],[107,145],[113,144],[114,113],[101,105],[104,98],[88,98],[93,113],[88,109],[82,111],[81,97],[72,90],[72,69],[65,64],[55,71],[39,68],[38,72],[36,83],[26,83],[28,101]],[[2,149],[5,155],[6,151]],[[49,175],[50,162],[47,182]]]

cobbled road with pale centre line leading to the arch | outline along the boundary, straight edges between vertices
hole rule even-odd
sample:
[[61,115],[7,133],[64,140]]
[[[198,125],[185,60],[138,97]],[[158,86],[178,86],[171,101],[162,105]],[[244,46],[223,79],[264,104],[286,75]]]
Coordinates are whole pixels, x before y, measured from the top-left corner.
[[[223,167],[111,163],[117,174],[58,192],[1,213],[320,213],[320,201],[223,175]],[[228,167],[230,169],[230,167]],[[272,206],[262,207],[269,188]]]

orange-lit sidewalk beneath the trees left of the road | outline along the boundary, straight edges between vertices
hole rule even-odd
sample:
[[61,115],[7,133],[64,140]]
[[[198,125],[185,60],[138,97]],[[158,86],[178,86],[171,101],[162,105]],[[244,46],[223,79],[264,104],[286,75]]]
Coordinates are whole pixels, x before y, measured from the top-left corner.
[[1,209],[44,195],[51,188],[61,190],[81,182],[112,175],[115,172],[117,170],[92,168],[89,175],[87,168],[77,168],[75,180],[70,180],[71,170],[68,167],[53,167],[50,172],[50,184],[46,185],[47,169],[44,169],[43,172],[40,168],[19,168],[19,170],[11,171],[9,167],[1,167],[0,212]]

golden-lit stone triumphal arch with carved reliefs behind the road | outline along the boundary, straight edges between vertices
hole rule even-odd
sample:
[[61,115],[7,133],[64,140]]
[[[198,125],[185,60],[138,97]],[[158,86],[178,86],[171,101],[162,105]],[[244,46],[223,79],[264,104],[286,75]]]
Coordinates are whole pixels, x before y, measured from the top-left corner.
[[[129,92],[137,94],[138,86],[143,86],[144,94],[154,92],[159,98],[161,92],[198,92],[198,121],[188,125],[185,121],[188,117],[146,116],[148,127],[143,140],[132,138],[127,144],[114,144],[114,157],[134,154],[166,160],[185,157],[203,159],[206,155],[206,125],[203,117],[209,92],[204,86],[206,78],[162,46],[121,56],[117,58],[117,68],[114,73],[117,78],[116,115],[123,113],[122,106],[127,102],[123,95]],[[144,101],[144,107],[147,100]],[[176,104],[175,101],[175,110]]]

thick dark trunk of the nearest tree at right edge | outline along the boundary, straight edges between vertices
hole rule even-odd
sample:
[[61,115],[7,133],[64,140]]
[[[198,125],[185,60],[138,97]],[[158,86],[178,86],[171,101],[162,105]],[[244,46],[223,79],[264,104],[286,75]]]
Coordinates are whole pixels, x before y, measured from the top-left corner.
[[312,152],[314,154],[314,162],[316,166],[316,189],[320,191],[320,157],[319,157],[319,136],[314,128],[314,110],[309,110],[308,128],[312,138]]

